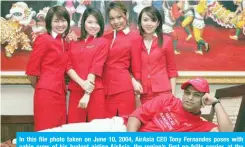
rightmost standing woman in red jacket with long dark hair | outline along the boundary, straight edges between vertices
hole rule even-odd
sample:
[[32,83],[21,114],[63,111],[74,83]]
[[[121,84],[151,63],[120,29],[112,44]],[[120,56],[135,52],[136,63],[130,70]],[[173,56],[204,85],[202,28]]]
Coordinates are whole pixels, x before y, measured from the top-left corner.
[[144,8],[139,15],[138,25],[143,37],[141,103],[145,103],[164,93],[175,94],[178,73],[172,39],[162,34],[162,19],[159,11],[154,7]]

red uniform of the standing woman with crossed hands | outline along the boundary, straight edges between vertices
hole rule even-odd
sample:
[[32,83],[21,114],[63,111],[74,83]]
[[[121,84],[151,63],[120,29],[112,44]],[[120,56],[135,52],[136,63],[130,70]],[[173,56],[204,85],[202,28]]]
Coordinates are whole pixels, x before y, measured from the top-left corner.
[[[91,121],[105,117],[105,93],[102,84],[102,72],[108,53],[108,41],[105,38],[89,37],[87,40],[72,42],[69,49],[68,69],[74,69],[83,80],[89,73],[96,75],[95,89],[90,95],[86,109],[78,108],[84,90],[75,82],[70,81],[68,123]],[[86,120],[87,119],[87,120]]]

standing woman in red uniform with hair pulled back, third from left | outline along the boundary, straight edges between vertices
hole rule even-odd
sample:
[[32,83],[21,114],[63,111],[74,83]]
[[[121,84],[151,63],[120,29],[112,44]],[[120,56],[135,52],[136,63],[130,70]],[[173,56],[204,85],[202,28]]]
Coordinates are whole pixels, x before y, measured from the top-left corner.
[[[107,117],[128,115],[135,110],[135,91],[142,91],[140,83],[140,46],[137,32],[127,26],[127,9],[121,2],[111,2],[107,8],[113,31],[104,35],[110,49],[103,73]],[[137,43],[137,42],[136,42]]]

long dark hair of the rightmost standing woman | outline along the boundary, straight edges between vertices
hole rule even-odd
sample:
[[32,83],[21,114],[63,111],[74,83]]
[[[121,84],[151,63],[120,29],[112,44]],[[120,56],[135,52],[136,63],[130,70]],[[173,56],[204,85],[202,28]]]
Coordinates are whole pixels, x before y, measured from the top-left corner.
[[158,36],[158,46],[162,47],[162,44],[163,44],[162,23],[163,23],[163,20],[162,20],[162,16],[161,16],[160,12],[153,6],[145,7],[140,12],[140,15],[138,18],[138,26],[139,26],[141,36],[144,36],[144,34],[145,34],[145,31],[143,30],[142,25],[141,25],[142,14],[144,12],[151,18],[151,20],[153,20],[154,22],[156,22],[156,21],[159,22],[159,25],[156,28],[155,32]]

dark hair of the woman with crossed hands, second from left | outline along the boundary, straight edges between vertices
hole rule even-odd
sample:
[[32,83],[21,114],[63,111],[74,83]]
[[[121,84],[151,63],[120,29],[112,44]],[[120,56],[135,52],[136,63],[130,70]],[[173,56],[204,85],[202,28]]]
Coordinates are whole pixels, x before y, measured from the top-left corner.
[[85,12],[83,13],[83,17],[81,19],[81,36],[80,36],[80,40],[83,40],[87,37],[88,33],[85,30],[85,21],[88,18],[89,15],[93,15],[95,17],[95,19],[97,20],[99,26],[100,26],[100,31],[98,32],[96,37],[100,37],[103,35],[104,33],[104,27],[105,27],[105,23],[104,23],[104,18],[101,14],[101,12],[96,9],[96,8],[92,8],[90,6],[87,6],[87,9],[85,10]]

